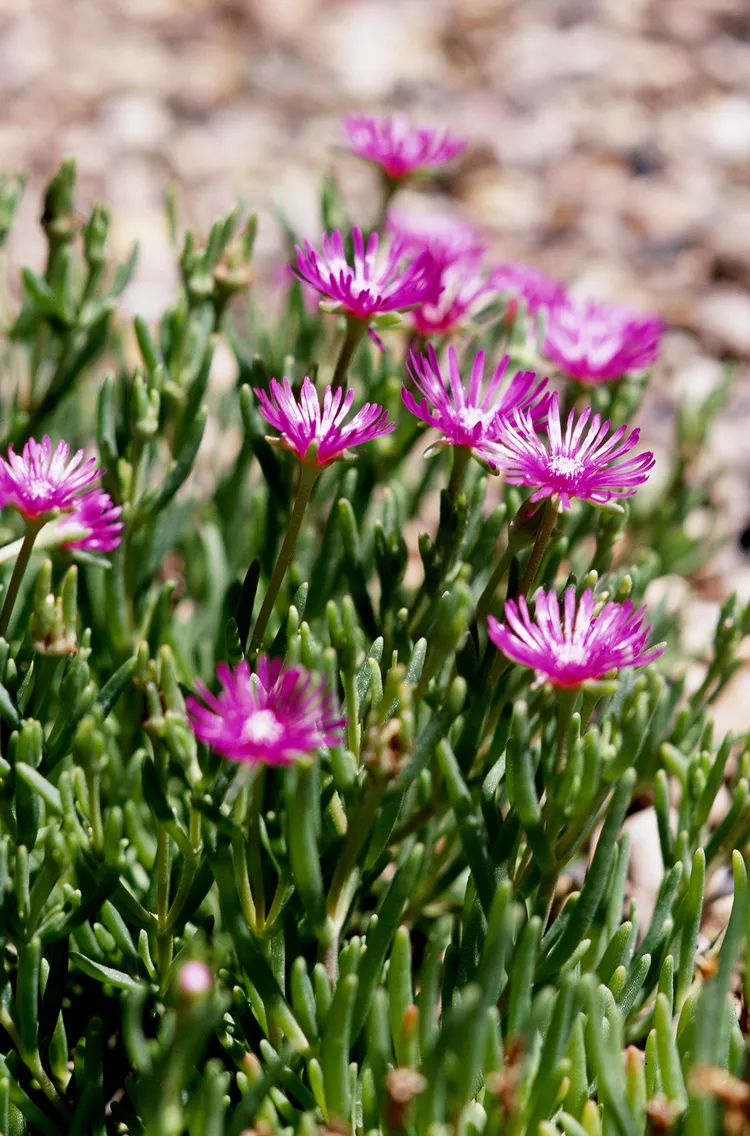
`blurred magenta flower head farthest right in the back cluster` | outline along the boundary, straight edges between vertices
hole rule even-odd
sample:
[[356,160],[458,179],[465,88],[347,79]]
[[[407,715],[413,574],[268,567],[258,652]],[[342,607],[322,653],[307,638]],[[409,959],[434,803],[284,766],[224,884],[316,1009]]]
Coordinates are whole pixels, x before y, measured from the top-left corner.
[[664,325],[620,303],[566,299],[544,325],[544,356],[581,383],[607,383],[656,362]]

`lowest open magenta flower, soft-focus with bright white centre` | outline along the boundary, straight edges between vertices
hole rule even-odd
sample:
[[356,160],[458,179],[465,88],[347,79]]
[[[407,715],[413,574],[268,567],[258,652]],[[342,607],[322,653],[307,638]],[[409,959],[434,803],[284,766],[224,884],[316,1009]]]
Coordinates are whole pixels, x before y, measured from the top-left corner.
[[290,765],[341,742],[345,718],[318,675],[266,655],[255,675],[244,659],[234,670],[219,663],[216,675],[220,693],[198,684],[200,700],[186,700],[188,716],[195,737],[230,761]]

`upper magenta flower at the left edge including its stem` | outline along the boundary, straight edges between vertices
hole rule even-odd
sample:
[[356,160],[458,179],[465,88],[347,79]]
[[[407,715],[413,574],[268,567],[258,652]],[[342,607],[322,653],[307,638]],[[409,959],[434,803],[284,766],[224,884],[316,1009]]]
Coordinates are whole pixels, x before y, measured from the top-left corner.
[[58,442],[52,451],[48,435],[41,442],[30,438],[20,454],[9,445],[8,457],[0,458],[0,507],[15,509],[26,521],[26,534],[0,610],[0,635],[8,629],[18,588],[40,531],[58,511],[73,510],[78,495],[98,476],[95,458],[84,461],[83,450],[70,458],[67,442]]

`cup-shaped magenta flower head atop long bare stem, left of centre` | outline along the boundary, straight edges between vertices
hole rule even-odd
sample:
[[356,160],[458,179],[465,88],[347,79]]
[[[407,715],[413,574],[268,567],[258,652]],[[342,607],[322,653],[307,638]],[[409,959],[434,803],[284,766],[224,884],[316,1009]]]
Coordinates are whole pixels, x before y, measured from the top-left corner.
[[[328,466],[345,457],[351,446],[372,442],[395,429],[395,423],[388,419],[388,410],[370,402],[360,407],[351,421],[344,423],[355,399],[351,390],[344,395],[341,387],[334,392],[326,386],[320,409],[318,392],[307,376],[299,401],[288,378],[283,386],[272,378],[270,394],[257,389],[256,394],[260,400],[260,414],[281,434],[277,442],[295,453],[300,461],[314,466]],[[308,456],[311,443],[315,449]]]

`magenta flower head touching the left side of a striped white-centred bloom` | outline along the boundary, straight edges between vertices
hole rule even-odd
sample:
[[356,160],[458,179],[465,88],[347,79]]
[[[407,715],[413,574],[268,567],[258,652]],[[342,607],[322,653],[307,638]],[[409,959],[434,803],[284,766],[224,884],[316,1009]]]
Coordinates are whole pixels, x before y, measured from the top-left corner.
[[438,448],[460,445],[493,471],[498,468],[497,441],[503,423],[514,411],[524,411],[530,421],[543,416],[548,399],[547,379],[536,378],[533,370],[519,371],[502,386],[508,357],[500,360],[489,383],[484,384],[484,351],[477,351],[472,365],[468,392],[458,367],[456,351],[448,349],[448,385],[432,346],[426,356],[409,357],[408,369],[422,394],[417,402],[406,387],[401,398],[407,410],[427,426],[440,431]]

